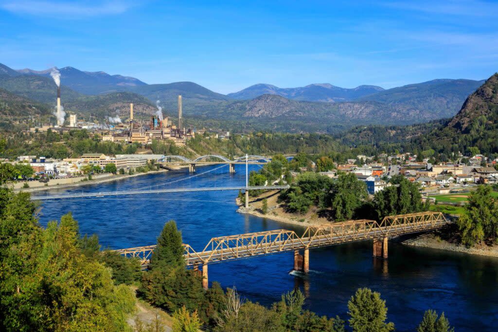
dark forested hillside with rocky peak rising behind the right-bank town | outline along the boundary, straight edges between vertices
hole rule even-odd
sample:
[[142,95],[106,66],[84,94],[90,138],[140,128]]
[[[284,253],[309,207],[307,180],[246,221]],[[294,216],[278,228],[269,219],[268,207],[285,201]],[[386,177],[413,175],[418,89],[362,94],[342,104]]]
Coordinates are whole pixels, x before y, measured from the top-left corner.
[[471,147],[488,156],[498,153],[498,74],[471,94],[450,119],[407,126],[355,127],[336,138],[350,146],[370,146],[378,151],[433,149],[442,161],[458,153],[469,156]]

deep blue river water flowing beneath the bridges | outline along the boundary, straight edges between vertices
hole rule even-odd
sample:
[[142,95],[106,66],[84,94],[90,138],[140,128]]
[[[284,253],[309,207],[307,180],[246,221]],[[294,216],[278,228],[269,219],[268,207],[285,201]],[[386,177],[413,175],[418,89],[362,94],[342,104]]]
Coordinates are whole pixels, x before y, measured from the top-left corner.
[[[250,165],[250,169],[258,169]],[[208,172],[210,171],[210,172]],[[198,167],[88,185],[63,192],[236,186],[245,183],[245,166]],[[44,195],[44,194],[34,194]],[[183,241],[202,250],[215,236],[304,227],[238,214],[236,192],[193,192],[47,201],[40,222],[72,212],[82,234],[96,233],[113,249],[155,244],[164,222],[175,220]],[[227,261],[209,266],[209,281],[236,286],[251,301],[270,305],[299,287],[306,309],[347,320],[347,302],[360,287],[380,292],[396,331],[414,331],[426,309],[444,311],[456,331],[496,331],[498,259],[389,243],[389,259],[373,259],[370,241],[310,250],[310,273],[291,272],[292,252]]]

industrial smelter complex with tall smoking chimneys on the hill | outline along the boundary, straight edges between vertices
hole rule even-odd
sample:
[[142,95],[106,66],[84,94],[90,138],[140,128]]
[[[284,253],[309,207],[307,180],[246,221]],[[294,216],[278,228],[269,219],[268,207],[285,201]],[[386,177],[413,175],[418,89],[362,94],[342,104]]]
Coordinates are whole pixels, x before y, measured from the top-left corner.
[[[69,114],[69,126],[64,126],[66,112],[61,105],[61,86],[60,74],[58,70],[52,70],[51,76],[57,85],[57,106],[54,115],[57,118],[57,124],[41,125],[29,128],[30,132],[47,131],[48,129],[57,132],[65,132],[71,129],[89,129],[95,133],[102,135],[102,140],[113,142],[127,142],[127,143],[140,143],[150,144],[153,139],[157,140],[170,140],[177,146],[185,145],[189,138],[195,136],[193,128],[185,128],[182,126],[182,96],[178,96],[178,126],[174,125],[168,117],[162,116],[162,108],[159,107],[154,115],[150,116],[150,121],[138,120],[133,117],[133,104],[129,104],[129,120],[123,123],[119,116],[116,117],[116,124],[98,124],[92,122],[91,116],[89,121],[77,121],[76,114]],[[109,117],[111,119],[111,117]]]

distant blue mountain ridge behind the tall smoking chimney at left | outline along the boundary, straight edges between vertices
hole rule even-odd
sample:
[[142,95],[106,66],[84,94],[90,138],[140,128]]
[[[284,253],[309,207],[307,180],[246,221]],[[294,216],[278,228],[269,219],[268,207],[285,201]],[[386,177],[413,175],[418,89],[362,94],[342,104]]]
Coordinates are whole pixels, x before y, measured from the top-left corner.
[[[22,75],[35,75],[50,78],[50,70],[35,71],[21,69],[16,72]],[[117,91],[126,87],[146,85],[142,81],[122,75],[109,75],[105,72],[84,72],[73,67],[59,69],[61,82],[74,91],[86,95],[96,95]]]

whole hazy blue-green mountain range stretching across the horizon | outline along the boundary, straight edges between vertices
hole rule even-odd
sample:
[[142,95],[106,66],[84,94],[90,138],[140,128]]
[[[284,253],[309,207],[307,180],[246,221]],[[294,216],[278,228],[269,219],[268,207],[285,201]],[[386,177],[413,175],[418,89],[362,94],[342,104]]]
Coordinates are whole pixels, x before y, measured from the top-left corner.
[[[184,115],[199,121],[219,119],[250,123],[252,129],[260,125],[320,132],[355,124],[409,124],[451,117],[484,83],[441,79],[387,90],[368,85],[345,89],[331,84],[298,88],[257,84],[223,95],[193,82],[148,85],[136,78],[105,72],[73,67],[59,71],[62,102],[69,111],[92,112],[107,118],[125,114],[127,103],[134,103],[139,113],[152,114],[159,101],[166,115],[174,117],[177,96],[182,95]],[[0,88],[28,100],[55,105],[56,86],[50,70],[13,70],[0,64]]]

